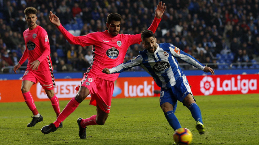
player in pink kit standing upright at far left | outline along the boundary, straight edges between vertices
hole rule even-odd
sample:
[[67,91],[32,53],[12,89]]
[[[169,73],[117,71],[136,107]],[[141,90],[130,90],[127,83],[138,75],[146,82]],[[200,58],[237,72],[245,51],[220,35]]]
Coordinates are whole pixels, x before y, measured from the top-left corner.
[[[34,115],[31,123],[27,125],[28,127],[32,127],[43,120],[30,93],[31,86],[37,83],[37,81],[39,81],[45,90],[47,97],[49,97],[57,117],[60,114],[60,107],[58,98],[54,93],[56,84],[49,55],[50,46],[47,32],[36,24],[37,9],[28,7],[24,10],[24,13],[26,16],[25,20],[28,24],[28,29],[23,32],[26,49],[18,64],[14,66],[14,72],[16,73],[16,70],[18,70],[18,68],[21,67],[21,64],[28,58],[27,69],[22,77],[21,90],[25,103]],[[60,124],[59,127],[62,126],[63,124]]]

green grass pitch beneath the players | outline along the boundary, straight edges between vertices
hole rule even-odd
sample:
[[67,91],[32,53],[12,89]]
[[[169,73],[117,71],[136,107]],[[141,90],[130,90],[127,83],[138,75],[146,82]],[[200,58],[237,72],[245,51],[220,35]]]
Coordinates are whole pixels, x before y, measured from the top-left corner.
[[[176,116],[193,133],[191,144],[259,144],[259,94],[195,96],[205,134],[195,129],[190,111],[178,102]],[[68,101],[60,101],[64,109]],[[87,138],[78,136],[77,118],[96,114],[84,100],[63,122],[63,128],[44,135],[41,128],[56,120],[50,101],[35,102],[43,122],[28,128],[32,113],[26,103],[0,103],[0,144],[148,144],[170,145],[173,129],[159,106],[159,97],[113,99],[103,126],[87,127]]]

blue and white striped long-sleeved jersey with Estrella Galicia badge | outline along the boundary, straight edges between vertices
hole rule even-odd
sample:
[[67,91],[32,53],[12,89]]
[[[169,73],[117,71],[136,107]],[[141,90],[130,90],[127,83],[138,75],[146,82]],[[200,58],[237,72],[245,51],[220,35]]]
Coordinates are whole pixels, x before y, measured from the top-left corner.
[[110,73],[121,73],[134,66],[141,66],[153,77],[159,87],[168,89],[174,86],[176,80],[184,75],[176,57],[201,70],[205,68],[193,56],[170,43],[157,44],[157,49],[154,53],[150,53],[146,49],[139,53],[140,55],[134,59],[110,68]]

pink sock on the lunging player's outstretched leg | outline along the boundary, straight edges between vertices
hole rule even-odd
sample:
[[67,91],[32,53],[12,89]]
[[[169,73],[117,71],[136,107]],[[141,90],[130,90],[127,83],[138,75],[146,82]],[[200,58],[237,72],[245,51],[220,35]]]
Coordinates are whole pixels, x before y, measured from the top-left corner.
[[53,122],[53,124],[58,127],[59,124],[61,122],[63,122],[66,117],[68,117],[68,115],[70,115],[71,113],[73,113],[75,111],[75,109],[77,109],[78,105],[80,103],[78,103],[75,100],[75,97],[73,97],[66,105],[66,107],[64,108],[64,110],[60,113],[60,115],[58,116],[57,120],[55,122]]

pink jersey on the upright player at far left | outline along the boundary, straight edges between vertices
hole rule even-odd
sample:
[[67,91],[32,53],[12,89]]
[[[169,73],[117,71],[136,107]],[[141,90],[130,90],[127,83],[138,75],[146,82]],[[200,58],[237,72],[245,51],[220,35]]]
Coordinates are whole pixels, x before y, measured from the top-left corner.
[[41,26],[37,26],[33,30],[25,30],[23,32],[26,49],[19,63],[28,58],[27,68],[30,69],[31,62],[39,60],[40,64],[37,71],[52,70],[52,62],[50,59],[49,38],[46,30]]

